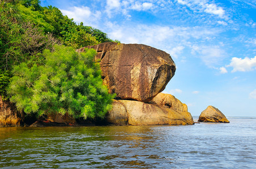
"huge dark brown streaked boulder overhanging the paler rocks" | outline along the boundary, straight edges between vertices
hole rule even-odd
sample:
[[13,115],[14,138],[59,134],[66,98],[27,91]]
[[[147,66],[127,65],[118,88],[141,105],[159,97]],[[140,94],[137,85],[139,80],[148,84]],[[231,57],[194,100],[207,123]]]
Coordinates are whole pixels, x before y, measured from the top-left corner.
[[164,90],[176,70],[169,54],[146,45],[106,42],[77,51],[84,48],[97,51],[103,82],[118,99],[147,103]]

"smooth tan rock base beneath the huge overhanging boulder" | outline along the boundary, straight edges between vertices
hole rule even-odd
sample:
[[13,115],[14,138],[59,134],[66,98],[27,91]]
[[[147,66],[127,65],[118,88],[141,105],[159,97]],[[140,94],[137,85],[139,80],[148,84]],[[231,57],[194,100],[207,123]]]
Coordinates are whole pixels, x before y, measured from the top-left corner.
[[[163,94],[165,97],[173,98],[172,95]],[[160,94],[160,96],[163,96]],[[158,96],[158,97],[160,97]],[[174,97],[175,98],[175,97]],[[155,98],[154,98],[155,99]],[[152,103],[143,103],[134,100],[114,100],[113,109],[108,113],[106,120],[115,125],[186,125],[194,124],[193,118],[185,104],[174,99],[169,105],[157,104],[154,99]],[[167,99],[165,99],[167,100]]]

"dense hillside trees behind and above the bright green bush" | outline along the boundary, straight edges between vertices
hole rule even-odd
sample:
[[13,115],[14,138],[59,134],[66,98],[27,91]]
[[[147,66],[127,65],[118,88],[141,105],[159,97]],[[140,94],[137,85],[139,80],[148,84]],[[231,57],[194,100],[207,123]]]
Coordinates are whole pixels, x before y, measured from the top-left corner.
[[42,51],[52,50],[54,44],[80,48],[108,41],[112,40],[100,30],[76,25],[58,8],[41,7],[39,0],[0,1],[0,74],[5,77],[0,78],[1,95],[13,66],[42,64]]

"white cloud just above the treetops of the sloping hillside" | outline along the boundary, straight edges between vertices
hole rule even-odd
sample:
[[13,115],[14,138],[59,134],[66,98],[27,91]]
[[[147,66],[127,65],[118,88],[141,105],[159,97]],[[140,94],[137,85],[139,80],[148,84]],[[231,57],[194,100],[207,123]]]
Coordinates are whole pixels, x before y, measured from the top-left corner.
[[76,23],[83,22],[84,25],[97,25],[100,20],[101,12],[95,11],[94,13],[87,6],[71,7],[70,10],[61,10],[63,15],[67,15],[69,18],[74,19]]

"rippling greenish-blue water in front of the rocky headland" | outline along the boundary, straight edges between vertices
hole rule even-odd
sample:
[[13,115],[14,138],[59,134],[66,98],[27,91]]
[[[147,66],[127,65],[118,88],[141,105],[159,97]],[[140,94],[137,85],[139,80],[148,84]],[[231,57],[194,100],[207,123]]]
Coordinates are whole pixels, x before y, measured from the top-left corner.
[[228,119],[191,126],[0,128],[0,168],[256,168],[256,118]]

